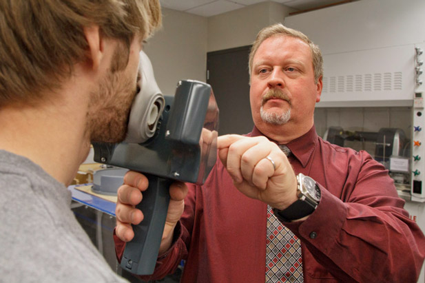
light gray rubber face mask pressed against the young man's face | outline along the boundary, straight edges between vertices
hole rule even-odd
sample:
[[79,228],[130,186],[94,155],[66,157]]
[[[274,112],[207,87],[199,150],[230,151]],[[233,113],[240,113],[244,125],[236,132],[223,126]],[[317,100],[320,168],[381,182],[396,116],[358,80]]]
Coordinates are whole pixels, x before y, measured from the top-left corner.
[[141,78],[137,85],[141,91],[136,94],[130,110],[126,143],[144,143],[152,138],[165,105],[164,96],[155,81],[152,63],[143,51],[138,70]]

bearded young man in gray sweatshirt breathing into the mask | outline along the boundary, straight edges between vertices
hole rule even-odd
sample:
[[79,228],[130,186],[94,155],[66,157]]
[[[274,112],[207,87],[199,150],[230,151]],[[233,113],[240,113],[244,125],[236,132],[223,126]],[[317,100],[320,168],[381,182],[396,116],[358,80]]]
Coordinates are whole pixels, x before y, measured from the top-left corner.
[[0,277],[121,282],[70,210],[92,141],[123,140],[157,0],[0,2]]

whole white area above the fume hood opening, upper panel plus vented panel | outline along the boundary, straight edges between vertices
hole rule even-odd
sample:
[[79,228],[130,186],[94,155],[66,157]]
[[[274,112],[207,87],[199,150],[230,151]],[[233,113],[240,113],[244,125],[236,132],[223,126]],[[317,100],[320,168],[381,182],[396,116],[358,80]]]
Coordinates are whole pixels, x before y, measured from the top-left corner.
[[[287,17],[286,25],[307,34],[322,50],[323,91],[317,106],[350,107],[359,101],[412,106],[418,91],[415,44],[425,41],[424,14],[423,0],[363,0]],[[327,87],[330,82],[333,89]],[[349,83],[356,87],[348,89]]]

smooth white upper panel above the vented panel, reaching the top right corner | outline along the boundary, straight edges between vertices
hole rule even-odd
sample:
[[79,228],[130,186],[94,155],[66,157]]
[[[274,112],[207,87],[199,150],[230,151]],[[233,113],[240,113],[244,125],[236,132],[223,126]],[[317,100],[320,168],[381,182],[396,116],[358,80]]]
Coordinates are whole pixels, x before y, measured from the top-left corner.
[[284,24],[307,34],[323,54],[425,41],[424,0],[362,0],[289,16]]

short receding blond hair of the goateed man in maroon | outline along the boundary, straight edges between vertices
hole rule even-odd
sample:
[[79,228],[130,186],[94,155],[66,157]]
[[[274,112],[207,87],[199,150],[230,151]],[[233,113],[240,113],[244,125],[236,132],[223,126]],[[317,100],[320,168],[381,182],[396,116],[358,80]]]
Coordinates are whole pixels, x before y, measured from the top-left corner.
[[293,30],[292,28],[287,28],[282,23],[276,23],[270,25],[267,28],[263,28],[258,32],[256,41],[253,42],[251,47],[251,52],[249,52],[249,76],[251,76],[253,56],[256,54],[261,43],[268,39],[271,36],[292,36],[297,39],[301,39],[307,43],[311,50],[311,55],[313,57],[313,70],[314,70],[314,81],[318,83],[320,76],[323,76],[323,58],[322,53],[318,45],[315,45],[305,34],[299,32],[298,30]]

